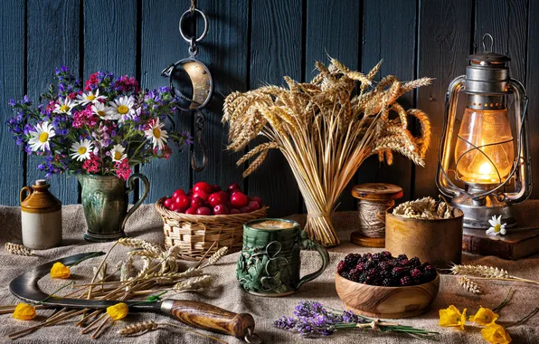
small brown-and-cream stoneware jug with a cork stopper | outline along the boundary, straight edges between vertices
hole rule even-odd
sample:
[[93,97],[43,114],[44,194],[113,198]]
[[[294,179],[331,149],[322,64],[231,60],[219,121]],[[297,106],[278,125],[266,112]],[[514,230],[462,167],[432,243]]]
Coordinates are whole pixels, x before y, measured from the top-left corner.
[[24,186],[20,192],[23,244],[43,250],[61,244],[61,202],[49,191],[45,179]]

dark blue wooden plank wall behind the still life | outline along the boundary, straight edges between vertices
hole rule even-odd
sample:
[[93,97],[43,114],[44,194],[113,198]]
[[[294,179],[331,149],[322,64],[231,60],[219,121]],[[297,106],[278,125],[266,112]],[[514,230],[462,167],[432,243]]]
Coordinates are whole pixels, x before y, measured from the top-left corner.
[[[190,1],[177,0],[6,0],[0,2],[0,111],[9,119],[7,101],[24,94],[37,99],[52,81],[54,68],[68,65],[80,77],[97,70],[137,77],[145,88],[166,85],[160,72],[188,55],[178,32],[181,14]],[[482,50],[484,33],[495,37],[495,51],[511,58],[512,76],[523,81],[528,95],[538,90],[539,27],[531,0],[199,0],[210,21],[198,57],[216,80],[215,98],[206,111],[204,140],[210,164],[195,173],[189,149],[169,160],[136,167],[147,175],[147,202],[207,180],[226,186],[240,182],[251,195],[271,205],[271,215],[304,210],[301,195],[286,161],[271,151],[251,177],[241,180],[241,154],[224,151],[227,129],[221,124],[222,100],[231,91],[247,91],[264,83],[283,84],[282,76],[309,81],[314,62],[328,56],[352,69],[368,72],[383,59],[383,74],[402,80],[430,76],[433,85],[402,98],[406,108],[425,110],[432,120],[432,146],[427,166],[414,167],[395,155],[392,167],[370,158],[355,183],[389,182],[402,186],[404,199],[439,194],[434,184],[438,144],[449,81],[465,72],[469,53]],[[391,11],[387,9],[391,8]],[[535,15],[535,16],[536,16]],[[201,21],[198,21],[200,31]],[[539,105],[530,97],[529,130],[532,151],[539,148]],[[189,113],[178,113],[176,125],[193,129]],[[411,123],[411,129],[414,128]],[[43,177],[39,159],[27,158],[7,129],[0,135],[0,204],[18,205],[18,191]],[[534,180],[539,158],[532,157]],[[52,192],[64,204],[80,202],[75,178],[52,177]],[[139,190],[132,198],[137,199]],[[536,187],[532,197],[539,197]],[[355,208],[346,190],[338,210]]]

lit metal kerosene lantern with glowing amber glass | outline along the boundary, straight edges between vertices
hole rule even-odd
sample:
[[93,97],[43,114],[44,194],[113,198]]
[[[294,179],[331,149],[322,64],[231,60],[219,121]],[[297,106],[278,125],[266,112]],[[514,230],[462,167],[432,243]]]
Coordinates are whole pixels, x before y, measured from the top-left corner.
[[[466,75],[449,84],[440,139],[436,184],[464,212],[464,226],[469,228],[489,227],[493,215],[502,215],[506,227],[515,226],[511,205],[524,202],[532,191],[528,98],[522,83],[509,76],[510,58],[492,53],[493,46],[492,36],[483,36],[485,52],[470,55]],[[460,127],[455,128],[460,91],[467,103]],[[509,95],[515,102],[515,135],[507,113]]]

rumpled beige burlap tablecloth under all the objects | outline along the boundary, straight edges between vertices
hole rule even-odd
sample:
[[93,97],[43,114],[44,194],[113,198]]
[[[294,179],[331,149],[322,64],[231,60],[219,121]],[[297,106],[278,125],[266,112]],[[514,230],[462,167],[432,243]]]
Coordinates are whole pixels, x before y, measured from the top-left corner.
[[[20,210],[15,207],[0,206],[0,240],[2,246],[5,241],[21,243]],[[300,219],[297,217],[297,219]],[[421,340],[408,336],[391,333],[378,333],[368,331],[360,333],[357,330],[342,331],[332,335],[327,339],[303,339],[296,333],[275,329],[273,321],[283,314],[291,315],[298,301],[316,300],[323,304],[342,309],[343,303],[339,300],[335,286],[334,273],[336,263],[345,256],[345,253],[375,252],[379,250],[365,249],[347,243],[347,234],[355,229],[355,213],[337,213],[335,216],[336,228],[344,239],[343,244],[331,250],[331,262],[326,272],[314,282],[308,282],[296,294],[284,298],[263,298],[252,296],[240,290],[235,280],[235,263],[238,253],[226,256],[222,263],[209,269],[214,274],[215,282],[212,290],[203,294],[182,293],[171,295],[177,299],[192,299],[205,301],[236,312],[249,312],[256,321],[256,332],[264,339],[265,343],[294,343],[294,342],[321,342],[321,340],[331,340],[332,343],[353,343],[353,342],[383,342],[383,343],[415,343]],[[14,277],[28,267],[35,264],[46,263],[53,259],[74,253],[106,251],[110,244],[90,244],[82,239],[85,231],[84,216],[80,205],[68,205],[63,207],[63,245],[51,250],[37,252],[38,256],[22,257],[6,253],[0,249],[0,298],[2,304],[15,304],[17,300],[11,295],[8,284]],[[152,205],[145,205],[139,209],[129,220],[128,234],[137,236],[148,241],[161,243],[163,233],[161,220],[156,215]],[[125,253],[125,248],[118,248],[113,251],[111,261],[118,261]],[[539,280],[539,255],[526,258],[517,262],[504,261],[495,257],[481,257],[464,254],[464,263],[479,263],[494,265],[508,270],[515,276]],[[83,276],[91,274],[91,267],[99,263],[99,258],[82,263],[72,269],[73,278],[81,280]],[[303,252],[302,265],[304,273],[317,270],[320,259],[317,253]],[[186,264],[186,263],[185,263]],[[40,282],[42,289],[54,290],[64,284],[65,281],[51,281],[49,277],[44,277]],[[440,293],[434,301],[430,311],[423,315],[409,319],[399,320],[400,323],[412,325],[418,328],[435,330],[440,332],[440,341],[443,343],[484,343],[479,334],[479,328],[467,326],[467,329],[454,330],[440,328],[438,326],[438,311],[454,304],[459,309],[468,308],[468,314],[478,310],[479,305],[485,307],[495,307],[502,301],[509,289],[513,286],[515,296],[513,301],[500,312],[499,323],[507,325],[524,317],[525,314],[539,306],[539,287],[522,282],[482,282],[481,286],[487,292],[483,296],[473,296],[467,291],[463,291],[457,284],[454,276],[441,276]],[[52,311],[38,311],[36,320],[43,320]],[[212,339],[205,339],[182,331],[156,330],[141,337],[122,338],[117,331],[120,327],[140,320],[175,321],[158,314],[129,314],[125,320],[120,320],[114,326],[106,330],[98,342],[108,343],[214,343]],[[8,342],[5,336],[14,330],[23,330],[33,325],[34,321],[14,320],[10,315],[0,317],[0,340]],[[50,328],[38,330],[17,342],[25,343],[90,343],[96,340],[90,339],[89,335],[79,333],[79,328],[73,326],[74,321],[65,321]],[[539,316],[528,320],[525,324],[510,329],[514,343],[539,343]],[[217,335],[230,343],[240,343],[238,339],[228,336]]]

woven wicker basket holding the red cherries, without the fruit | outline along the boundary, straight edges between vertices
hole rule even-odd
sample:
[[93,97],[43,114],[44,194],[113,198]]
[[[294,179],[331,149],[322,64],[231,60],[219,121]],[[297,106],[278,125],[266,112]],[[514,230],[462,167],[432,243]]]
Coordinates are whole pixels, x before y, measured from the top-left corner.
[[[166,197],[156,203],[157,212],[163,218],[165,246],[179,245],[180,256],[188,260],[198,260],[210,248],[208,254],[222,246],[229,248],[229,253],[241,250],[243,224],[266,216],[268,206],[262,206],[246,214],[233,215],[189,215],[176,213],[165,208]],[[215,244],[214,244],[215,243]]]

